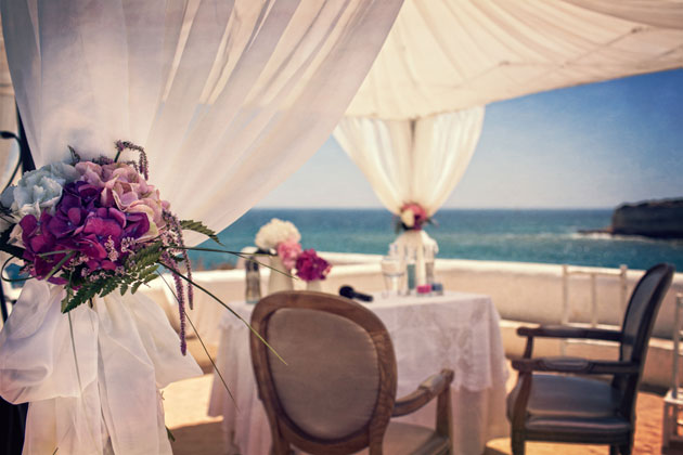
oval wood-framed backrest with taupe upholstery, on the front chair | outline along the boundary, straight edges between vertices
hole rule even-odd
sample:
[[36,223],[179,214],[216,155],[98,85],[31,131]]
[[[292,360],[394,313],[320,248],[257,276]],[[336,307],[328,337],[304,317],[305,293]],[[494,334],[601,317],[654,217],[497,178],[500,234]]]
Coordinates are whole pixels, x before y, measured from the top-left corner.
[[396,400],[389,335],[370,310],[343,297],[284,291],[261,299],[252,326],[252,363],[274,453],[289,443],[311,453],[379,446]]

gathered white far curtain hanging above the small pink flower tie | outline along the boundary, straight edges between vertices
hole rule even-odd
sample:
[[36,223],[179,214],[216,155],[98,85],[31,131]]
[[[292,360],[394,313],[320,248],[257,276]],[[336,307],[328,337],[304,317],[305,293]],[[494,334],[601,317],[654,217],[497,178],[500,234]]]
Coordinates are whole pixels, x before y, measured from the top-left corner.
[[434,214],[462,179],[484,107],[416,120],[345,117],[334,136],[392,213],[417,203]]

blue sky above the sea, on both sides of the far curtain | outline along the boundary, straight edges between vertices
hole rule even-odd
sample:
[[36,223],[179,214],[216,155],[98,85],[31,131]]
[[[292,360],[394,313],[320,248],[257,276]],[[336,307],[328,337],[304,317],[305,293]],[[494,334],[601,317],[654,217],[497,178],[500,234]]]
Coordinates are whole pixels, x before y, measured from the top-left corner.
[[[683,69],[492,103],[444,208],[611,208],[683,196]],[[333,138],[257,207],[382,207]]]

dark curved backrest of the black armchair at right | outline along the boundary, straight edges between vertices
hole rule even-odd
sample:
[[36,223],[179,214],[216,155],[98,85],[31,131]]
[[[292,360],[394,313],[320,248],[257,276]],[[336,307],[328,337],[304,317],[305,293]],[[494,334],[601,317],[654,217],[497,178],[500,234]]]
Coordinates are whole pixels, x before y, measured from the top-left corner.
[[639,364],[641,373],[615,377],[613,385],[622,392],[622,411],[624,413],[631,414],[633,412],[635,392],[645,366],[649,337],[661,301],[673,280],[673,265],[666,263],[650,268],[641,277],[631,294],[621,325],[619,359]]

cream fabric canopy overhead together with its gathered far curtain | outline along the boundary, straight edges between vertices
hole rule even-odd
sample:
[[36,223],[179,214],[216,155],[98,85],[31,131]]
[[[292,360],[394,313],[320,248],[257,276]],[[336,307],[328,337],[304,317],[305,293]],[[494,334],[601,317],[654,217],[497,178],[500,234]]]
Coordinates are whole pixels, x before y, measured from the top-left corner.
[[674,67],[681,0],[411,0],[335,138],[387,209],[433,214],[476,147],[478,106]]

